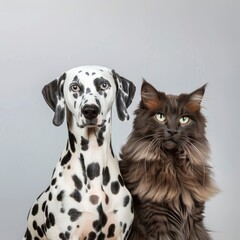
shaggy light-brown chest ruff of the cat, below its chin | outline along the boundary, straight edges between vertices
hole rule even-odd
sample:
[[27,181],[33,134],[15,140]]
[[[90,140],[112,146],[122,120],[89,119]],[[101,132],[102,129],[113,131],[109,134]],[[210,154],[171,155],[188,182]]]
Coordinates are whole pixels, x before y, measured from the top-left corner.
[[164,161],[129,162],[128,171],[132,173],[129,177],[131,181],[134,179],[130,188],[140,199],[169,203],[177,209],[180,208],[181,199],[181,204],[191,211],[194,200],[204,202],[213,192],[207,177],[209,168],[187,166],[176,156],[169,156]]

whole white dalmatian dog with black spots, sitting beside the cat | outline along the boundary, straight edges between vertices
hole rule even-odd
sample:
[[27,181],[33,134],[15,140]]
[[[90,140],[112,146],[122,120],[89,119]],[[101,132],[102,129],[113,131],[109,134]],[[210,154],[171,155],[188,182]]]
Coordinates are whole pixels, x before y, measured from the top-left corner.
[[81,66],[42,90],[59,126],[66,115],[68,141],[49,187],[28,214],[25,240],[127,239],[132,198],[111,147],[111,108],[120,120],[135,86],[114,70]]

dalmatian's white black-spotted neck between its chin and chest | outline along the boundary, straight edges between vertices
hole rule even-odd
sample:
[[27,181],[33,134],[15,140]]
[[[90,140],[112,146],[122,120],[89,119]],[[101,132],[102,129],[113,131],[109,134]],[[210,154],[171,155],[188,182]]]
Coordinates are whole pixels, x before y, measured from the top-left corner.
[[[97,156],[97,158],[108,159],[114,157],[111,149],[111,110],[107,113],[106,122],[101,127],[84,127],[77,125],[76,119],[68,112],[68,148],[75,149],[74,153],[77,155],[84,154],[96,155],[101,153],[111,153],[111,156]],[[104,164],[105,165],[105,164]]]

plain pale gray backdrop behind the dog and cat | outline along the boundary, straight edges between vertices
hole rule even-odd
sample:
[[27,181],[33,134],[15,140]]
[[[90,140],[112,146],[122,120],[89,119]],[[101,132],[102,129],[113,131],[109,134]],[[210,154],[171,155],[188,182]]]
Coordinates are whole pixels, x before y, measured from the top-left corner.
[[[233,0],[0,1],[0,238],[21,239],[26,216],[66,143],[42,87],[87,64],[178,94],[208,83],[204,113],[221,193],[207,204],[216,240],[240,239],[240,4]],[[115,109],[114,109],[115,113]],[[113,120],[118,154],[132,120]]]

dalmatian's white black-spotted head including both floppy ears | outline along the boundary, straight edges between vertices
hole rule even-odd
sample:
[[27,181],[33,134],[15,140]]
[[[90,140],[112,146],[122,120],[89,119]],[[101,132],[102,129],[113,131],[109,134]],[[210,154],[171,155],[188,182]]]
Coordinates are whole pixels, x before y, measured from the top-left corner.
[[134,84],[114,70],[83,66],[63,73],[42,90],[44,99],[55,112],[53,124],[60,126],[66,108],[79,127],[101,126],[116,99],[120,120],[128,120],[127,108],[135,94]]

